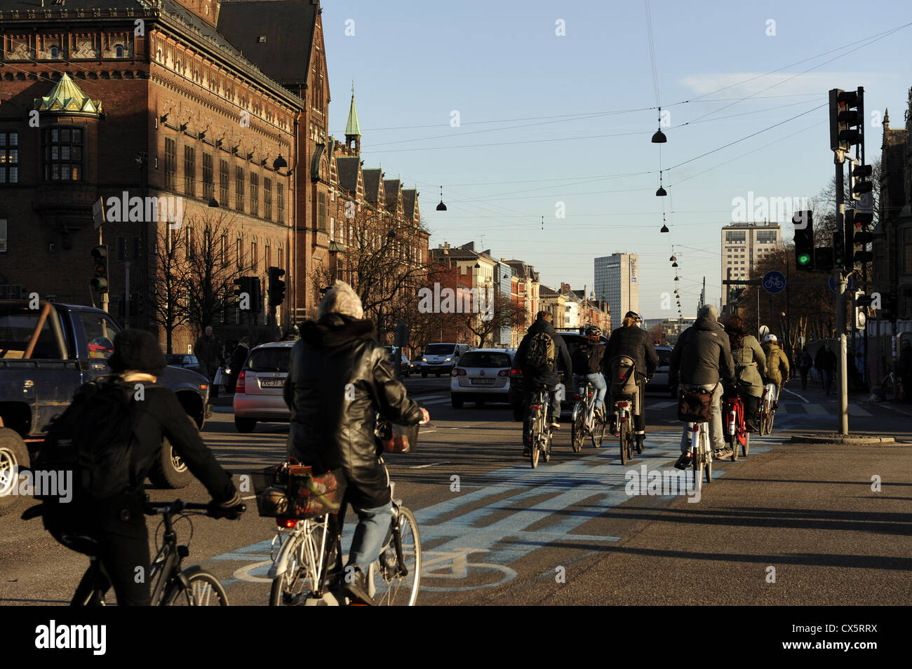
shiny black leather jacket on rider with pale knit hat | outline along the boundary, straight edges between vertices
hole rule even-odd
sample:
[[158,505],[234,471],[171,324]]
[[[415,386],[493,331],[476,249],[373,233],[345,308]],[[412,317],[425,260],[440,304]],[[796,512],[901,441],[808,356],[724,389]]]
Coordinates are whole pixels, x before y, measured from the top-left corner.
[[346,499],[362,509],[389,503],[389,476],[374,436],[377,414],[399,425],[421,420],[374,336],[370,321],[343,314],[307,322],[284,391],[291,409],[288,455],[317,471],[343,468]]

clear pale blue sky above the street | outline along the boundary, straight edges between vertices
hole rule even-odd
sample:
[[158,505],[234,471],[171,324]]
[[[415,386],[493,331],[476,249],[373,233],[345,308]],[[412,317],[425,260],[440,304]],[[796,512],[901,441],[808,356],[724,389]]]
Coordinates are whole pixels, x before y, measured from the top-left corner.
[[365,167],[418,186],[431,248],[474,241],[574,288],[596,257],[635,252],[640,314],[677,316],[662,293],[679,287],[694,315],[704,277],[720,299],[737,198],[813,198],[833,178],[830,88],[865,87],[867,162],[884,109],[905,124],[907,7],[325,0],[329,133],[344,139],[354,81]]

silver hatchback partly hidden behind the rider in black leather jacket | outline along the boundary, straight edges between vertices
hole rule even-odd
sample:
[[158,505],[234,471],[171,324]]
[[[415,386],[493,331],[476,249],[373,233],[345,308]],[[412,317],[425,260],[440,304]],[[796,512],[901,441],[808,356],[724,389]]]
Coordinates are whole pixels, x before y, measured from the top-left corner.
[[238,432],[252,432],[258,422],[287,423],[291,419],[282,391],[294,345],[263,344],[247,356],[234,391],[234,427]]

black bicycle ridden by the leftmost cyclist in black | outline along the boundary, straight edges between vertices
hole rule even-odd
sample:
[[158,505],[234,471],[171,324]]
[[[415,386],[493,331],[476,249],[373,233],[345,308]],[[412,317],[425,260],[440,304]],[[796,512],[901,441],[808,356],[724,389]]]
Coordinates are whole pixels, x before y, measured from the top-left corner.
[[[181,570],[184,558],[190,555],[189,545],[178,545],[177,533],[174,531],[172,516],[180,515],[190,522],[191,515],[219,518],[221,514],[212,513],[209,504],[196,504],[175,499],[171,502],[146,501],[147,515],[161,515],[164,532],[161,535],[161,548],[150,565],[150,582],[152,588],[150,605],[152,606],[228,606],[228,595],[222,583],[198,564]],[[185,513],[189,510],[204,510],[206,513]],[[244,511],[240,507],[238,511]],[[160,525],[161,527],[161,525]],[[156,530],[156,535],[158,530]],[[190,536],[193,536],[191,523]],[[89,546],[97,545],[95,540],[80,538]],[[108,574],[95,555],[89,555],[86,573],[73,595],[73,604],[77,606],[105,606],[105,594],[110,587]]]

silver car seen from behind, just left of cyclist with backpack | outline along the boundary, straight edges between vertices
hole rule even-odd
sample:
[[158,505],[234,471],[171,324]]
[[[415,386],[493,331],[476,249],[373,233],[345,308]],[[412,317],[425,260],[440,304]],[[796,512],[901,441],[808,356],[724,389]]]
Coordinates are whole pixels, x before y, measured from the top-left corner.
[[462,354],[450,374],[450,401],[461,408],[465,401],[481,407],[485,402],[510,402],[510,369],[513,355],[503,348],[476,348]]

